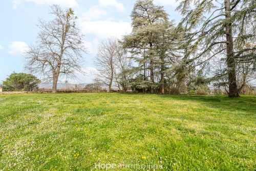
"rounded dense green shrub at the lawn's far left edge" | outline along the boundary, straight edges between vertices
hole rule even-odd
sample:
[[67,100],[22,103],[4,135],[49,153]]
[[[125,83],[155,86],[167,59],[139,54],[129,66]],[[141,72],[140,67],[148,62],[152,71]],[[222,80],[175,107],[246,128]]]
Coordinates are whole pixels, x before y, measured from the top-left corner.
[[31,91],[38,88],[40,80],[31,74],[13,72],[3,82],[4,91]]

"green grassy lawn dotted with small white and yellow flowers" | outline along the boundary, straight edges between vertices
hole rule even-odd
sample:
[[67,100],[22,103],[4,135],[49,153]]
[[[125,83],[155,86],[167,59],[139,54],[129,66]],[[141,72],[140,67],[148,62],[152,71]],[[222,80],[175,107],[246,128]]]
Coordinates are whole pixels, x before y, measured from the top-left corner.
[[0,170],[256,170],[255,96],[26,94],[0,104]]

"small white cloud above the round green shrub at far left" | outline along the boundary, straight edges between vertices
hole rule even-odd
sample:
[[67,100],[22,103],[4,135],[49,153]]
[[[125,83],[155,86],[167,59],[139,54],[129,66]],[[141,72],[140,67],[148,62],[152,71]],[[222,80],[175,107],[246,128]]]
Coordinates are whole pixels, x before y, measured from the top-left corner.
[[13,41],[9,45],[8,53],[11,55],[24,55],[28,50],[28,44],[23,41]]

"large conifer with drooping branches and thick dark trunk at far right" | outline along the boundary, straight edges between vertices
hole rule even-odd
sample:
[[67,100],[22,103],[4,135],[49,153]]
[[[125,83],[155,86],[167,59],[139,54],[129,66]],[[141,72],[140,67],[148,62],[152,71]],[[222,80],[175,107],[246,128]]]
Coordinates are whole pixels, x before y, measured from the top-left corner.
[[177,10],[184,16],[177,31],[187,38],[181,67],[200,66],[209,73],[218,64],[215,60],[223,58],[229,97],[238,97],[237,65],[256,59],[255,45],[246,45],[256,38],[256,1],[183,0]]

